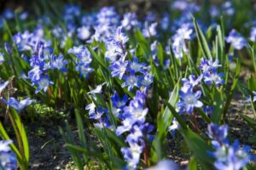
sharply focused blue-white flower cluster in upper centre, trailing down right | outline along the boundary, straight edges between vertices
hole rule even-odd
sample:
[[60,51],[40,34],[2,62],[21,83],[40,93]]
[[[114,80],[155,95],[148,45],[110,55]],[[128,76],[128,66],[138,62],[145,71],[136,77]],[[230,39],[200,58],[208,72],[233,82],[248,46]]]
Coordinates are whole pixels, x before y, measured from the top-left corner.
[[127,41],[128,37],[125,36],[122,27],[118,27],[116,33],[106,41],[107,47],[111,47],[107,48],[105,53],[106,58],[111,63],[111,75],[124,80],[122,87],[128,87],[129,91],[134,87],[147,89],[153,82],[153,76],[148,71],[148,67],[139,63],[136,57],[133,57],[133,61],[125,59],[127,56],[125,54],[125,43]]

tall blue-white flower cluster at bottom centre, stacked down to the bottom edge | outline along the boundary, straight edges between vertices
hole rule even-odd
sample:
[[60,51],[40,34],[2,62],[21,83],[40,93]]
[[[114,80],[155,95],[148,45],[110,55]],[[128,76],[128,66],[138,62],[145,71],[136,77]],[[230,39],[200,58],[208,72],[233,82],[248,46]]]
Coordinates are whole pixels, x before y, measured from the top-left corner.
[[152,138],[148,133],[153,130],[153,127],[146,122],[148,108],[144,108],[145,95],[137,91],[136,96],[128,106],[125,106],[127,103],[126,96],[120,99],[118,94],[114,94],[111,99],[113,108],[118,112],[117,116],[121,119],[121,125],[117,127],[116,134],[128,133],[125,141],[129,147],[122,148],[121,151],[129,169],[136,169],[143,150],[147,150],[146,140]]

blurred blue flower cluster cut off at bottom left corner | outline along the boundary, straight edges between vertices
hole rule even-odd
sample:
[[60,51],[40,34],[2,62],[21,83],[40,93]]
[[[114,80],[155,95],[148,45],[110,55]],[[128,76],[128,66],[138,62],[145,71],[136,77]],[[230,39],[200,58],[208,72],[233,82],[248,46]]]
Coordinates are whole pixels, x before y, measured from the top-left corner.
[[11,140],[0,140],[0,169],[13,170],[17,167],[16,156],[9,147]]

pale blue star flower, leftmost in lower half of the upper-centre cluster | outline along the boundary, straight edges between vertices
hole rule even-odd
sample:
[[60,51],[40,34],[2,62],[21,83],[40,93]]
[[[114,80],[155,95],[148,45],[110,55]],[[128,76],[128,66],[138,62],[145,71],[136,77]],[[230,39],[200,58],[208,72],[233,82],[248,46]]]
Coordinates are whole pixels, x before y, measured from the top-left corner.
[[118,61],[114,61],[110,65],[111,76],[119,77],[119,79],[121,80],[125,74],[127,65],[128,61],[125,61],[125,55],[121,56]]

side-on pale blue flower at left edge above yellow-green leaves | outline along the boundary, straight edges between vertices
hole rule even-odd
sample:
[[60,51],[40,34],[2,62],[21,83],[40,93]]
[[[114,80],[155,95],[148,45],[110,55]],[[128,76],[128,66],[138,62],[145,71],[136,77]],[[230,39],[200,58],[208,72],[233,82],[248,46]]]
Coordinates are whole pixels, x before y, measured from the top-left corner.
[[20,113],[20,111],[22,111],[27,105],[32,104],[32,102],[34,102],[34,99],[30,99],[30,98],[26,98],[26,99],[22,99],[21,101],[18,101],[17,99],[10,97],[9,100],[5,100],[5,99],[1,99],[3,101],[3,103],[5,103],[6,105],[9,105],[11,107],[13,107],[16,111],[18,111]]

